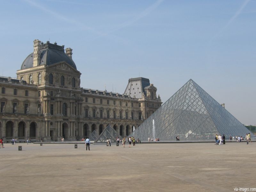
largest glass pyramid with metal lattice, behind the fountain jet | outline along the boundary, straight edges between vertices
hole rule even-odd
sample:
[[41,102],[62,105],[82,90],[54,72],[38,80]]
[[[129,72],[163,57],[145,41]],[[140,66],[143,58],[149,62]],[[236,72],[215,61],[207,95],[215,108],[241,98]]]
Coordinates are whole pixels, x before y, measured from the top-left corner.
[[[154,128],[153,128],[154,120]],[[169,100],[132,132],[140,140],[214,139],[216,134],[242,135],[250,131],[190,79]],[[254,137],[252,132],[251,137]]]

